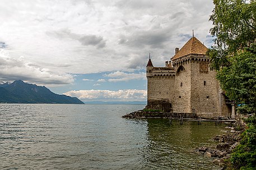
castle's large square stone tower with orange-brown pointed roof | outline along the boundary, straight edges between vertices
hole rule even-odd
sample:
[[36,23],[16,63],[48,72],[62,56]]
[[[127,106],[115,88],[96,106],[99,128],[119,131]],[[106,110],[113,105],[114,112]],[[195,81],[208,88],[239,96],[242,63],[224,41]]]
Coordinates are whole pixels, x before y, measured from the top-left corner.
[[176,70],[174,112],[221,114],[220,85],[215,78],[216,71],[210,68],[207,50],[193,36],[171,58]]

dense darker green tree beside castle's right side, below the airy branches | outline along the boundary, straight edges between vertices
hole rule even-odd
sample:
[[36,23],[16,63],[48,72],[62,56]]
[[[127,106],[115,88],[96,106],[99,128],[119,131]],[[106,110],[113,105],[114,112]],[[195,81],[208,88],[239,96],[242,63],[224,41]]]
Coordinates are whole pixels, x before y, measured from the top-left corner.
[[229,66],[217,72],[221,88],[236,100],[240,113],[256,113],[256,45],[228,57]]

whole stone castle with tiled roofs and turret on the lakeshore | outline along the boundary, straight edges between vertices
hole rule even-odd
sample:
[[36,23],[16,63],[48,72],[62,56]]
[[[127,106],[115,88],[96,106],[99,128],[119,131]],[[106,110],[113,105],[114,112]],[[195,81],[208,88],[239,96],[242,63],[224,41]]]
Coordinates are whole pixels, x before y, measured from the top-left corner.
[[197,114],[204,117],[235,117],[234,102],[226,98],[210,67],[208,48],[190,38],[165,67],[146,67],[148,109]]

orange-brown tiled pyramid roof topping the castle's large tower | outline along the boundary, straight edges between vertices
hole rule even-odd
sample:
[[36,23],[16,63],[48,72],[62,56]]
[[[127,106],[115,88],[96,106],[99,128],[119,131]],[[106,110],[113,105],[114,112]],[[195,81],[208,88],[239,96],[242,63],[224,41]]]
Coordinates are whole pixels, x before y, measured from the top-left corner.
[[208,48],[204,46],[196,37],[190,38],[187,43],[179,50],[177,54],[173,56],[173,60],[179,59],[189,54],[202,54],[206,55]]

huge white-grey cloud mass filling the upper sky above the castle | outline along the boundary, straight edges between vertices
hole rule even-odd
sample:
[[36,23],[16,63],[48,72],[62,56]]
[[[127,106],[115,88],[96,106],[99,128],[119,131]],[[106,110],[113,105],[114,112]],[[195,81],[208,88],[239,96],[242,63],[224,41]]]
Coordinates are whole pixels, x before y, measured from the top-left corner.
[[141,69],[148,52],[155,66],[164,66],[192,30],[211,45],[207,35],[212,1],[1,0],[0,4],[0,46],[54,72]]

